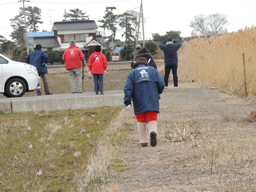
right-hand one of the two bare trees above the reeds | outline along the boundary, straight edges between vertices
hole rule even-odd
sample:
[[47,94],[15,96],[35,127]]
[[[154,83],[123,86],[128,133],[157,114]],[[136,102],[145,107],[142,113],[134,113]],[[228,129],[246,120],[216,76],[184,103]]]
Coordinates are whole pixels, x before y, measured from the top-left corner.
[[209,35],[217,35],[222,32],[225,32],[224,27],[229,25],[227,16],[219,13],[213,13],[208,16],[208,26],[211,29]]

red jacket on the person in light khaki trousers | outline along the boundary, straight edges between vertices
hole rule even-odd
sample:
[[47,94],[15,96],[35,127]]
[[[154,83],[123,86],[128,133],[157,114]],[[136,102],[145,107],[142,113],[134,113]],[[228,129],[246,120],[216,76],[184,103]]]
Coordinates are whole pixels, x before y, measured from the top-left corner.
[[83,66],[84,54],[78,47],[72,45],[64,52],[62,59],[65,61],[66,70],[79,68]]

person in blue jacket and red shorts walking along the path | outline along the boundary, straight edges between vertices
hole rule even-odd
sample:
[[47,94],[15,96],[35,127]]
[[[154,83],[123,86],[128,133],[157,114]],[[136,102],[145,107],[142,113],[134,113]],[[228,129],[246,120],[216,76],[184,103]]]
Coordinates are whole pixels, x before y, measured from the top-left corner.
[[137,119],[141,146],[148,145],[147,127],[149,128],[150,145],[157,144],[157,114],[159,112],[159,94],[164,90],[165,83],[160,73],[150,67],[147,59],[138,57],[134,69],[128,74],[124,85],[124,104],[133,110]]

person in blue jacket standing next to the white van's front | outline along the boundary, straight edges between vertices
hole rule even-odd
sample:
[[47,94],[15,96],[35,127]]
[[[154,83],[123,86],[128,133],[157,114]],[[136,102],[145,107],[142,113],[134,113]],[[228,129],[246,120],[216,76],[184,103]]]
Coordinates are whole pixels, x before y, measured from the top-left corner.
[[[31,64],[37,68],[38,75],[43,80],[44,94],[52,95],[53,93],[49,91],[48,80],[46,77],[46,74],[48,74],[47,67],[46,67],[48,63],[48,54],[43,52],[41,48],[42,48],[42,45],[37,44],[36,51],[33,51],[32,53],[27,55],[25,57],[25,60],[27,64]],[[37,90],[37,95],[38,96],[42,95],[40,90]]]

